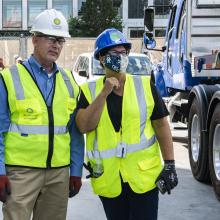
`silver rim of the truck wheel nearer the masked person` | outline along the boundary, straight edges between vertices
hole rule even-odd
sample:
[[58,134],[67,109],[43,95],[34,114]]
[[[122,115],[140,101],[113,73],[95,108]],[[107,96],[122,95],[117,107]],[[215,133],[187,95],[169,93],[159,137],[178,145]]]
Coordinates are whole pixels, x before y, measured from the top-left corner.
[[198,161],[200,149],[200,122],[198,115],[193,115],[191,127],[191,152],[194,162]]

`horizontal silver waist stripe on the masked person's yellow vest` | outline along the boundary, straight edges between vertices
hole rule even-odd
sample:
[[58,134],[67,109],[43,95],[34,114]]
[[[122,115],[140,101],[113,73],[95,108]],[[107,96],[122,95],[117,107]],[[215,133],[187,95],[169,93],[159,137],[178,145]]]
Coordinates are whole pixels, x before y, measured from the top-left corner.
[[110,150],[103,150],[103,151],[87,151],[87,157],[91,159],[96,158],[111,158],[111,157],[119,157],[119,158],[125,158],[126,154],[133,153],[136,151],[144,150],[150,146],[152,146],[156,142],[156,136],[150,138],[150,140],[146,142],[140,142],[138,144],[125,144],[125,143],[119,143],[119,145]]

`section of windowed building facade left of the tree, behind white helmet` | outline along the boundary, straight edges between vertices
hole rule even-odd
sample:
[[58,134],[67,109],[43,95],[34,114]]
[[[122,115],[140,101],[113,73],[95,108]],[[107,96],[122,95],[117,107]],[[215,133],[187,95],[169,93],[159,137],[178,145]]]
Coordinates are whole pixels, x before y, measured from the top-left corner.
[[0,0],[0,36],[28,34],[33,19],[49,8],[60,10],[68,19],[78,16],[85,0]]

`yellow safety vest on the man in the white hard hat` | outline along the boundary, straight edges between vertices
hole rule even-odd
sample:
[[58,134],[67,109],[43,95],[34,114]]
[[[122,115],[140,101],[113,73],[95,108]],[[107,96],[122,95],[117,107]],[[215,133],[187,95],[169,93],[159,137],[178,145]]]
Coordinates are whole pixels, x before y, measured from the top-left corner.
[[[5,163],[46,168],[49,151],[49,117],[54,131],[51,167],[70,164],[67,124],[76,107],[79,88],[71,72],[60,69],[54,80],[52,114],[26,68],[18,64],[2,71],[8,92],[11,124],[5,133]],[[50,125],[51,126],[51,125]]]

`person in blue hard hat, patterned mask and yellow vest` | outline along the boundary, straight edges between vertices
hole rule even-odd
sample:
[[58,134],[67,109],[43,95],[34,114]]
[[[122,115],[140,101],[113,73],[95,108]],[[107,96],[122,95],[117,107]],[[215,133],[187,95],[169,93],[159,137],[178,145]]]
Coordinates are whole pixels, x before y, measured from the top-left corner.
[[82,85],[76,123],[86,133],[86,168],[107,219],[154,220],[156,183],[170,194],[178,182],[173,144],[167,109],[150,77],[125,72],[130,49],[114,28],[97,37],[94,56],[105,76]]

